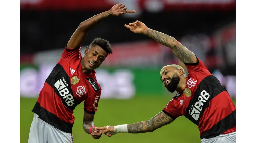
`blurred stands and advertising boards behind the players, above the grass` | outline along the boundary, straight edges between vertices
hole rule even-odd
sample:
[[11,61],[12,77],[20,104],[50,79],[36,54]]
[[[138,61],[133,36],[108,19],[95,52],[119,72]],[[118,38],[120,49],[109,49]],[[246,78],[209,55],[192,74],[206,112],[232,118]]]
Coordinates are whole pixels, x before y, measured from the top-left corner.
[[112,44],[113,54],[96,70],[102,98],[167,95],[159,70],[185,68],[169,48],[124,27],[136,20],[179,40],[236,97],[235,0],[20,0],[20,95],[37,97],[77,26],[120,2],[136,13],[102,21],[81,49],[95,37]]

